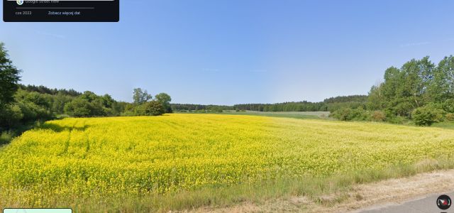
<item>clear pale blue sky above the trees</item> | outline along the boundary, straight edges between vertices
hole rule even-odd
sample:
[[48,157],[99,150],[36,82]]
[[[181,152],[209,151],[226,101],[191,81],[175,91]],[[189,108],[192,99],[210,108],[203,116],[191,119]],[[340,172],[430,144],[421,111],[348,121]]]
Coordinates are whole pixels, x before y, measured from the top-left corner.
[[[121,1],[119,23],[0,23],[23,84],[239,104],[367,94],[454,54],[454,1]],[[2,13],[3,8],[0,10]],[[1,14],[3,16],[3,14]]]

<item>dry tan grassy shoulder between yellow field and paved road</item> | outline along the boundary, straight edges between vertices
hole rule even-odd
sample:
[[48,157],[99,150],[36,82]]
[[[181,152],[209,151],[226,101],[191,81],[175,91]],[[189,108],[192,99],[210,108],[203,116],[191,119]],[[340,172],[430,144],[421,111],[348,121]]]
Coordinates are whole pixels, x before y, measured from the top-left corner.
[[435,193],[452,192],[453,180],[454,170],[438,170],[408,178],[356,185],[342,195],[319,197],[319,200],[331,204],[314,202],[308,197],[291,197],[286,200],[269,200],[261,204],[243,203],[232,207],[195,209],[192,212],[359,212],[364,208],[370,209],[389,203],[415,200]]

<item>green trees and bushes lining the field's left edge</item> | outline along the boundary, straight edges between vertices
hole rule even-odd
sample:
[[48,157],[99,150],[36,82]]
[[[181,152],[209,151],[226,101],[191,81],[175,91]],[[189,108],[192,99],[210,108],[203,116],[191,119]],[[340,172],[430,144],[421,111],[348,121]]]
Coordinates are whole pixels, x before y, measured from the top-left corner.
[[172,99],[165,93],[153,97],[136,88],[132,103],[118,102],[109,94],[19,84],[20,73],[0,43],[0,133],[65,116],[156,116],[172,112]]

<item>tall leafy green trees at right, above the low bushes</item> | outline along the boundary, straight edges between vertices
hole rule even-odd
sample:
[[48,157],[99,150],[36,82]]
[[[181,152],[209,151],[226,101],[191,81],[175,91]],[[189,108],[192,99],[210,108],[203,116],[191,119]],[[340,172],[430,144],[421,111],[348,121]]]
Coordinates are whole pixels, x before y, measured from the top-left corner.
[[[454,98],[453,56],[445,57],[438,66],[425,57],[421,60],[410,60],[401,68],[389,67],[384,72],[384,82],[370,90],[367,108],[387,111],[389,116],[404,116],[410,119],[414,117],[412,116],[414,109],[427,104],[441,104],[452,98]],[[452,108],[450,104],[446,107]],[[423,115],[423,109],[421,110],[416,111],[416,117],[422,119],[429,116]],[[426,123],[423,122],[421,125]]]

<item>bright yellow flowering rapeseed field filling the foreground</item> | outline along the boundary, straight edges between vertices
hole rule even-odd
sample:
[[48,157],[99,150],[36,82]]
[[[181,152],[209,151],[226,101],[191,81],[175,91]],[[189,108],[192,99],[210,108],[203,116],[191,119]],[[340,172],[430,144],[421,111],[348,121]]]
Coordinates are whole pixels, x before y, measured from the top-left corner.
[[[165,212],[316,195],[449,168],[453,153],[454,131],[438,128],[226,114],[63,119],[0,148],[0,208]],[[427,159],[448,163],[414,167]]]

